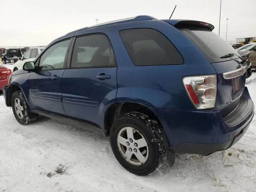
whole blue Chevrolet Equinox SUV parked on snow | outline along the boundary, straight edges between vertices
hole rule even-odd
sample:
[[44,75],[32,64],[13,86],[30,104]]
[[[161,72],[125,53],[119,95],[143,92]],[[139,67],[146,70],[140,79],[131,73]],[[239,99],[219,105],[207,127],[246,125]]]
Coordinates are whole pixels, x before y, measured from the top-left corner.
[[51,42],[3,93],[20,124],[50,117],[110,136],[137,175],[175,153],[225,150],[246,132],[254,104],[246,61],[211,24],[136,16]]

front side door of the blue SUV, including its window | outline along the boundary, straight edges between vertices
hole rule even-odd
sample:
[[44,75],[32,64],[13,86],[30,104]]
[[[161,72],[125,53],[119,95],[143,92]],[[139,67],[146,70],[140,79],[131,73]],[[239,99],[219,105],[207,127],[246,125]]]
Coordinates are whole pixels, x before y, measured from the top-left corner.
[[62,75],[66,68],[69,44],[70,39],[50,46],[36,61],[36,72],[32,72],[29,77],[30,98],[34,108],[65,114],[61,99]]

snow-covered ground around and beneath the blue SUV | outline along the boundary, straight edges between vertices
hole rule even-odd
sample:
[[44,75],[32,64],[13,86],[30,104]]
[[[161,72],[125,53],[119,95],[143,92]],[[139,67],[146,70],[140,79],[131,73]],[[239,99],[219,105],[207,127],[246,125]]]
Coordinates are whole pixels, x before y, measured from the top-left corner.
[[[256,103],[255,72],[246,86]],[[0,192],[253,192],[255,132],[256,117],[232,148],[177,155],[172,168],[139,177],[118,164],[108,137],[48,118],[22,126],[0,96]]]

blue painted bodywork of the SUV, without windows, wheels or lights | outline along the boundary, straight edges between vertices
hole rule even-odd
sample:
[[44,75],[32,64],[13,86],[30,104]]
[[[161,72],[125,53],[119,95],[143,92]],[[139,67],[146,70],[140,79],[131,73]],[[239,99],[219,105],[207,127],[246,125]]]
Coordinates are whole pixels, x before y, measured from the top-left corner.
[[[233,127],[226,125],[224,117],[230,114],[240,102],[240,98],[251,101],[244,88],[246,75],[241,76],[242,88],[238,99],[230,97],[232,80],[223,78],[224,72],[240,67],[239,59],[210,63],[200,49],[180,30],[175,28],[183,20],[156,20],[140,17],[129,22],[116,22],[70,32],[51,42],[49,46],[67,38],[88,34],[105,34],[114,50],[117,67],[109,68],[67,68],[46,72],[24,72],[12,74],[9,87],[4,87],[4,96],[13,85],[24,92],[30,109],[44,110],[56,114],[78,118],[98,125],[105,131],[105,115],[109,107],[133,102],[149,108],[160,120],[170,147],[184,143],[218,144],[232,140],[245,126],[250,124],[254,113]],[[158,30],[172,42],[184,59],[183,64],[165,66],[135,66],[120,37],[120,30],[152,28]],[[72,52],[72,47],[68,53]],[[36,58],[38,60],[40,55]],[[99,80],[99,74],[110,79]],[[196,110],[184,86],[182,78],[216,74],[216,105],[220,109]],[[53,75],[60,76],[52,81]],[[6,103],[7,98],[6,98]],[[250,114],[250,115],[249,115]]]

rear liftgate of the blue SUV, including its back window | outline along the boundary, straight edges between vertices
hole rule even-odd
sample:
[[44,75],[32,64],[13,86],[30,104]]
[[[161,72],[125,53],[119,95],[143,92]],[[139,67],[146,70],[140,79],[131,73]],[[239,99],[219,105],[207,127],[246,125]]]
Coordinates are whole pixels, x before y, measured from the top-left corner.
[[216,109],[226,116],[237,106],[244,91],[246,62],[242,62],[228,42],[206,27],[207,24],[188,23],[176,27],[196,44],[214,67],[217,74]]

